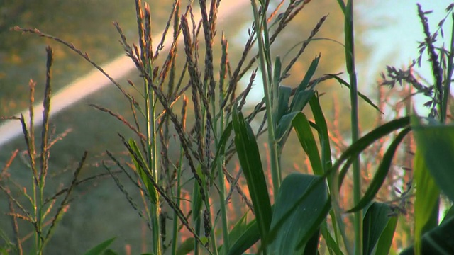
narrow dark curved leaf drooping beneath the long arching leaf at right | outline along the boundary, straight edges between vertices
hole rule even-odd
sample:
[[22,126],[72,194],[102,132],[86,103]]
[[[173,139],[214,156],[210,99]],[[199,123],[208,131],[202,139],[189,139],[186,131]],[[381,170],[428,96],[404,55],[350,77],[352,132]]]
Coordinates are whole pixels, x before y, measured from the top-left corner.
[[402,140],[404,140],[404,137],[410,132],[410,130],[411,128],[405,128],[404,130],[399,132],[399,135],[397,135],[394,141],[392,141],[391,145],[389,145],[387,151],[384,153],[382,162],[380,162],[380,166],[378,166],[374,178],[370,182],[370,186],[367,188],[364,196],[362,196],[361,200],[358,202],[358,205],[355,205],[347,212],[356,212],[358,210],[361,210],[362,208],[365,208],[365,206],[368,205],[372,201],[372,199],[375,198],[375,195],[382,187],[384,179],[386,179],[386,177],[388,176],[389,167],[392,164],[392,159],[394,158],[394,154],[396,154],[397,147],[400,145]]

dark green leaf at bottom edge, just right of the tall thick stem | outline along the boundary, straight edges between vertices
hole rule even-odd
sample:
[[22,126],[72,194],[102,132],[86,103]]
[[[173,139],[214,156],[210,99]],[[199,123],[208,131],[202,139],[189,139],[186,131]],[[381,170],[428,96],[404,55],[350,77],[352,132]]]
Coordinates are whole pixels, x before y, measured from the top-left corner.
[[397,217],[389,217],[389,212],[391,212],[389,205],[377,202],[365,210],[362,220],[362,254],[374,254],[375,247],[380,249],[381,254],[389,253],[397,225]]

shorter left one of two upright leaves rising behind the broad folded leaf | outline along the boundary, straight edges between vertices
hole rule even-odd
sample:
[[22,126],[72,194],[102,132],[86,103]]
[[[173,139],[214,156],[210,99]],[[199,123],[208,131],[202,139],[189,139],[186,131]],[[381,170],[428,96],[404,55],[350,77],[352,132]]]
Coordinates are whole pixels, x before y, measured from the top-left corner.
[[314,138],[314,134],[311,130],[309,120],[307,120],[304,113],[298,113],[292,120],[292,125],[297,133],[297,137],[304,152],[306,152],[311,162],[312,171],[314,174],[323,175],[323,166],[320,160],[319,147]]

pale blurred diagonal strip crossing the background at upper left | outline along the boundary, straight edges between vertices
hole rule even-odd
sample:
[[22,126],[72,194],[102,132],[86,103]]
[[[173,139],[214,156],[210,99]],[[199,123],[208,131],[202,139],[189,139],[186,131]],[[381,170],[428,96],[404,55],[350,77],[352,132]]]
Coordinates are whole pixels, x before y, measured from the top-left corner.
[[[222,23],[223,21],[228,21],[228,18],[226,19],[226,17],[235,14],[237,11],[242,10],[242,8],[248,8],[249,3],[250,1],[248,0],[221,1],[221,6],[218,10],[218,21],[220,23]],[[195,16],[195,18],[196,20],[199,20],[200,15]],[[172,35],[172,31],[167,34]],[[160,34],[156,35],[155,38],[153,38],[153,41],[157,42],[160,40],[160,38]],[[170,47],[171,43],[172,40],[166,40],[164,47]],[[135,69],[135,66],[129,57],[122,55],[121,57],[117,57],[115,60],[112,60],[108,64],[104,65],[102,68],[114,79],[121,79],[122,77],[125,77],[127,74],[131,73]],[[55,113],[58,113],[63,109],[72,106],[72,104],[76,103],[82,98],[89,96],[96,91],[99,91],[99,89],[102,89],[109,84],[111,84],[111,82],[109,81],[109,79],[104,77],[101,72],[97,70],[89,72],[89,74],[81,77],[80,79],[77,79],[71,84],[68,84],[64,89],[52,96],[52,107],[50,115],[55,115]],[[42,111],[43,102],[41,101],[35,105],[35,125],[40,125],[40,123],[43,122]],[[24,110],[21,113],[26,118],[26,123],[28,123],[28,110]],[[21,115],[21,113],[16,114],[16,116]],[[21,134],[22,128],[18,120],[3,121],[2,125],[0,125],[0,150],[3,145]]]

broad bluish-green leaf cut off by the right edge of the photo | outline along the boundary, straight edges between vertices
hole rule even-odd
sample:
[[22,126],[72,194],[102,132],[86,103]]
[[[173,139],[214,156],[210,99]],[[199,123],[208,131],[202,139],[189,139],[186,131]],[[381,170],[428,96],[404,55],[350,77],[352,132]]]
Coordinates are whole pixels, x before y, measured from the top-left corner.
[[437,186],[454,201],[454,125],[435,122],[422,125],[423,120],[427,119],[411,120],[416,146]]

